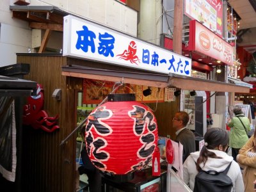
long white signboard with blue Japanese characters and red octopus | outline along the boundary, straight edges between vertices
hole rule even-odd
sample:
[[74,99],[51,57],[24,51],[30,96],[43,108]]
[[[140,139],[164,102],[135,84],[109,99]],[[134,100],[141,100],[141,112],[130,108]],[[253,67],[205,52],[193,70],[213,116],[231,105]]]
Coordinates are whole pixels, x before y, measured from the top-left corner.
[[72,15],[64,17],[63,56],[191,76],[191,59]]

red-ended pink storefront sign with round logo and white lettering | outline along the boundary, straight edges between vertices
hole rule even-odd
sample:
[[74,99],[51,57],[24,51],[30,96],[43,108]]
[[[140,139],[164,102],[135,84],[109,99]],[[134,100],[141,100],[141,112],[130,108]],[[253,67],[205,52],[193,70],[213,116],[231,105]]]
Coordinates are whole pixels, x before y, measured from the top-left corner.
[[196,51],[227,65],[233,65],[234,47],[196,20],[189,22],[189,51]]

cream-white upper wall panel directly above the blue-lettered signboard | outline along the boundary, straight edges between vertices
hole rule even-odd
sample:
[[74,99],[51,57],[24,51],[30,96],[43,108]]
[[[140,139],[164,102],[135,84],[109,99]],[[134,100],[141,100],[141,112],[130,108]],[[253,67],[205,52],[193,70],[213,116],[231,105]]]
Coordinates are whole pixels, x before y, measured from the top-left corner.
[[31,5],[47,4],[137,36],[138,13],[115,0],[31,0]]

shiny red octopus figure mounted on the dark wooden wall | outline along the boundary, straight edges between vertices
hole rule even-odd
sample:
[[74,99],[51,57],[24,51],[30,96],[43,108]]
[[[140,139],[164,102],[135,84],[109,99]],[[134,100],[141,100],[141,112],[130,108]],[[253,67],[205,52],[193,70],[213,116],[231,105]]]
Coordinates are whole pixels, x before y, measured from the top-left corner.
[[23,124],[31,125],[34,129],[52,132],[60,127],[57,124],[58,115],[51,117],[44,108],[44,93],[41,84],[36,85],[36,96],[28,97],[28,104],[23,107]]

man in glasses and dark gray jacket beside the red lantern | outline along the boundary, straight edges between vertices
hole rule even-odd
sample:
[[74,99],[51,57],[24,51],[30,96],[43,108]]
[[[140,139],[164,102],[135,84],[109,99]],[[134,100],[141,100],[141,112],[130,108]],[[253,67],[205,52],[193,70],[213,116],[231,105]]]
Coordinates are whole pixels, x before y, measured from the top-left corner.
[[186,128],[189,122],[189,115],[185,111],[175,113],[172,120],[173,128],[176,130],[175,141],[183,145],[182,163],[187,159],[191,152],[195,152],[195,135],[192,131]]

